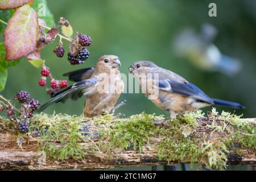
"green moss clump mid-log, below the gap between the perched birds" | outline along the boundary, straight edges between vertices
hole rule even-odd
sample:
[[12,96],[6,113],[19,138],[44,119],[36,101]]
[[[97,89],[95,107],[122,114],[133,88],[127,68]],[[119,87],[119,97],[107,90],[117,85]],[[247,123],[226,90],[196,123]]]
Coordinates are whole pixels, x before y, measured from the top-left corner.
[[[127,119],[116,119],[111,129],[100,131],[102,150],[110,151],[115,148],[126,150],[128,147],[133,147],[134,150],[138,148],[142,151],[143,144],[149,144],[150,137],[154,137],[158,131],[153,119],[162,119],[162,117],[142,113]],[[105,141],[108,143],[105,144]]]

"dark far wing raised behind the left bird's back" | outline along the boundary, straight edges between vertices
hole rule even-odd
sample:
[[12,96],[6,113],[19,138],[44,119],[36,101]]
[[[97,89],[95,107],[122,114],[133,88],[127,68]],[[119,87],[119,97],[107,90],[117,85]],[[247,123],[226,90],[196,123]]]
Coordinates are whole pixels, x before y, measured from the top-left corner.
[[63,76],[68,76],[69,80],[79,82],[89,79],[94,72],[94,68],[84,68],[69,73],[65,73]]

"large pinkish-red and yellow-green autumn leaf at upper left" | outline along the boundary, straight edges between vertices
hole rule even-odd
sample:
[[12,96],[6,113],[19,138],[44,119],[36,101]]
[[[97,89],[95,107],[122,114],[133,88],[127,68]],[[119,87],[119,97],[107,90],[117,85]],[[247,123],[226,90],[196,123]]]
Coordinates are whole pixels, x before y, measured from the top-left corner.
[[6,60],[26,57],[35,50],[38,16],[30,5],[17,9],[5,30]]

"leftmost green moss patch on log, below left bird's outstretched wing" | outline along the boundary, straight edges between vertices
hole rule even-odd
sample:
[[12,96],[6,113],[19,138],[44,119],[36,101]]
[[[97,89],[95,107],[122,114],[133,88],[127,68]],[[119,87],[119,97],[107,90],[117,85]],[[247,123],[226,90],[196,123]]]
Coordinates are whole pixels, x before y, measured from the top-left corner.
[[84,139],[79,132],[82,117],[46,114],[36,115],[30,121],[32,130],[39,131],[44,144],[39,143],[39,150],[46,151],[53,159],[81,159],[86,155],[85,147],[80,143]]

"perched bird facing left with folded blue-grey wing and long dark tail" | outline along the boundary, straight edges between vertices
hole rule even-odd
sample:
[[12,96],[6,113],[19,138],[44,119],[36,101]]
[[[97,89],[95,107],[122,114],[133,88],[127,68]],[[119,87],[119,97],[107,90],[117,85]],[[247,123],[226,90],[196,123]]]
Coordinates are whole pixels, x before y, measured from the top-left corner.
[[141,87],[144,86],[143,84],[151,82],[152,88],[148,84],[144,93],[147,97],[151,97],[151,101],[160,109],[170,112],[171,119],[175,119],[177,114],[212,105],[245,109],[245,106],[236,102],[210,98],[185,78],[160,68],[151,61],[135,62],[130,66],[129,73],[139,79]]

